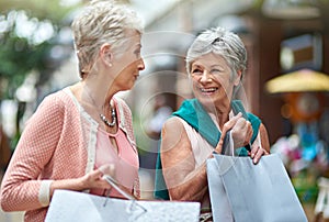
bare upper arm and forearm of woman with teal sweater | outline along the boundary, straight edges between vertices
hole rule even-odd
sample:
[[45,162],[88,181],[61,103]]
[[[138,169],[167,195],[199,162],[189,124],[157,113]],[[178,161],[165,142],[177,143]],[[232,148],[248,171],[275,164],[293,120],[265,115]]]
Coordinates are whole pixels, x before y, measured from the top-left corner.
[[162,127],[161,163],[171,200],[202,200],[207,192],[206,164],[195,168],[189,136],[178,118]]

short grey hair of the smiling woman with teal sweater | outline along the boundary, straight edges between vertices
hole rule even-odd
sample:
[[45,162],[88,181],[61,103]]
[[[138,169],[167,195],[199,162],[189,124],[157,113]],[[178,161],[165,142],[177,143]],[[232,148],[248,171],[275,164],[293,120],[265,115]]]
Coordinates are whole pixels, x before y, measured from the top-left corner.
[[241,38],[224,27],[212,27],[202,32],[190,46],[186,54],[186,70],[191,73],[192,63],[208,53],[220,55],[232,69],[234,75],[247,68],[247,51]]

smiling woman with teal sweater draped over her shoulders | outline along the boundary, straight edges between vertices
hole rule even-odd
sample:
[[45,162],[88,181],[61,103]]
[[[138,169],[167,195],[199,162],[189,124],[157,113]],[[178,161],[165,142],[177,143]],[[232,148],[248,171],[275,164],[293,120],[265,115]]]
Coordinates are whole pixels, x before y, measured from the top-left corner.
[[[209,29],[192,43],[186,69],[195,98],[185,100],[162,127],[156,198],[198,201],[209,212],[206,159],[213,152],[250,155],[254,164],[270,152],[260,119],[248,113],[246,120],[241,112],[232,112],[246,66],[245,45],[232,32]],[[232,145],[224,151],[228,131]]]

